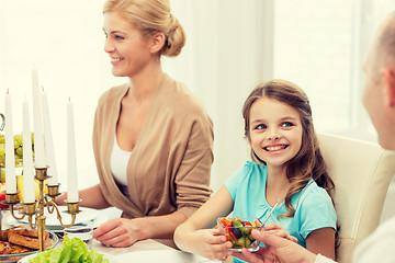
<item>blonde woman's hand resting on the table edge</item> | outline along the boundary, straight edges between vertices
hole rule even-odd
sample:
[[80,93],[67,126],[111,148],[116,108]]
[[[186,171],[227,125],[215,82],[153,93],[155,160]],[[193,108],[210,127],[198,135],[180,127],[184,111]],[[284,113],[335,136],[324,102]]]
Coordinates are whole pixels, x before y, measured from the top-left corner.
[[104,245],[129,247],[144,238],[144,227],[137,219],[114,218],[93,231],[93,238]]

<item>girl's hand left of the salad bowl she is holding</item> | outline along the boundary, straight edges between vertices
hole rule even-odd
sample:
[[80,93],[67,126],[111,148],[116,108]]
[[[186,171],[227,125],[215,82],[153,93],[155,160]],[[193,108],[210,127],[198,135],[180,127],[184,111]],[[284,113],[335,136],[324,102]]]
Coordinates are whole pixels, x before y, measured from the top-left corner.
[[221,233],[219,229],[201,229],[196,230],[189,237],[194,253],[207,258],[210,260],[225,260],[232,254],[229,250],[233,244],[227,238]]

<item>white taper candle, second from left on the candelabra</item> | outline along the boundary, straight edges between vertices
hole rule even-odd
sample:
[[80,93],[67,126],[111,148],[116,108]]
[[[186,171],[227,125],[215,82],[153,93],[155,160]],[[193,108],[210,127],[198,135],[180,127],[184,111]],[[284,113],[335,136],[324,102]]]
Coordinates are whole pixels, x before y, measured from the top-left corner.
[[23,100],[23,202],[35,202],[32,134],[27,100]]

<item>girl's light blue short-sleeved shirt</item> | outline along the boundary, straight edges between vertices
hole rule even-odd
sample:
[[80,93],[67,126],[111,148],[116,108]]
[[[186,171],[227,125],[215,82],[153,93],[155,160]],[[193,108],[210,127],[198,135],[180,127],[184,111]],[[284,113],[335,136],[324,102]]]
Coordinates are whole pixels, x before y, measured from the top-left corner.
[[[255,218],[264,219],[270,213],[271,206],[266,198],[266,184],[268,169],[251,161],[232,175],[225,183],[232,198],[234,199],[233,217],[240,217],[253,221]],[[267,224],[276,222],[281,225],[291,236],[297,238],[297,243],[306,248],[308,233],[320,228],[334,228],[336,230],[337,216],[330,196],[319,187],[315,181],[308,184],[291,197],[295,209],[294,217],[283,217],[286,214],[285,204],[275,208]]]

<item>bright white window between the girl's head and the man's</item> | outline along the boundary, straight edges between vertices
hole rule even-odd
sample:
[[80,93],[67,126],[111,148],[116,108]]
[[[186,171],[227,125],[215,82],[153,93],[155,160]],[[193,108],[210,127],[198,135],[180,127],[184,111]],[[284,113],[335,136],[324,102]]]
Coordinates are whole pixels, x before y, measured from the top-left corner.
[[362,106],[362,64],[393,1],[276,0],[274,78],[307,93],[318,132],[375,140]]

